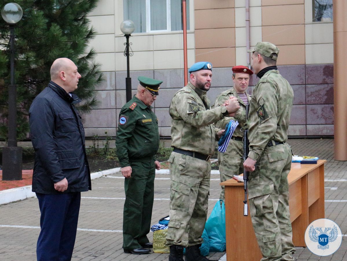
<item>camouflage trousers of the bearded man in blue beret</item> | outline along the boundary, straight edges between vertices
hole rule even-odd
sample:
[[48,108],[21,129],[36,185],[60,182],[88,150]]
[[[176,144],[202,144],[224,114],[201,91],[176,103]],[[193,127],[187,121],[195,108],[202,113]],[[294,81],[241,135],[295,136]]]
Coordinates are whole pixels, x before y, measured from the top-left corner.
[[172,152],[170,164],[170,222],[167,245],[202,243],[210,190],[211,163]]

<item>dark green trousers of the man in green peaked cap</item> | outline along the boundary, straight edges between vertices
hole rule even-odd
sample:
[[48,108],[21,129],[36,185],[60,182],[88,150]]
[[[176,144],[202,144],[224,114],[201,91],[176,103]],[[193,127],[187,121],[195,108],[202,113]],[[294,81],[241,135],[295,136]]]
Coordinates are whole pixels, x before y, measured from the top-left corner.
[[123,212],[123,248],[133,250],[149,242],[154,200],[155,164],[130,162],[132,173],[125,179]]

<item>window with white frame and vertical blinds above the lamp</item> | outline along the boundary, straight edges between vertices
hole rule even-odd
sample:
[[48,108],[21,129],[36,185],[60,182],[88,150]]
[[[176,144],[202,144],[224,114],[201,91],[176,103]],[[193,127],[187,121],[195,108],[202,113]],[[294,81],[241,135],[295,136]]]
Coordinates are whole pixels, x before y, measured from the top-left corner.
[[[134,33],[183,30],[181,0],[123,0],[124,19],[135,24]],[[189,0],[186,1],[189,30]]]

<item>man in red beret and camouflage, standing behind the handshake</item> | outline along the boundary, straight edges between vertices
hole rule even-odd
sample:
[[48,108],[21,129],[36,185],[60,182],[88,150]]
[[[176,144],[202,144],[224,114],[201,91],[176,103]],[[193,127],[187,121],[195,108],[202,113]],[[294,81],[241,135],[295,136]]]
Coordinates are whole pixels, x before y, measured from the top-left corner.
[[[236,97],[240,108],[236,111],[234,117],[225,117],[224,119],[216,122],[216,128],[224,129],[230,120],[235,120],[238,125],[232,134],[229,145],[225,153],[218,152],[218,166],[220,172],[220,182],[231,179],[234,175],[243,173],[243,132],[242,128],[246,123],[246,105],[249,104],[251,96],[246,93],[249,83],[249,76],[253,74],[248,67],[238,65],[231,68],[232,81],[234,87],[223,91],[214,101],[214,107],[221,106],[229,97]],[[221,186],[219,199],[225,201],[225,188]]]

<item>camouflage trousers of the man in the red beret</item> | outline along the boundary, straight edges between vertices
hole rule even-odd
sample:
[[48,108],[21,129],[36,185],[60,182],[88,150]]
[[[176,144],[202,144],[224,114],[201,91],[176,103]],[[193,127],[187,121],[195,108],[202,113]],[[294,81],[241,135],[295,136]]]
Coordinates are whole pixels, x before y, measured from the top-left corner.
[[[218,152],[218,165],[220,172],[220,182],[231,179],[234,175],[243,173],[243,142],[230,140],[225,153]],[[221,186],[219,199],[225,202],[225,188]]]

